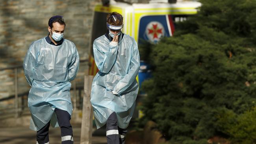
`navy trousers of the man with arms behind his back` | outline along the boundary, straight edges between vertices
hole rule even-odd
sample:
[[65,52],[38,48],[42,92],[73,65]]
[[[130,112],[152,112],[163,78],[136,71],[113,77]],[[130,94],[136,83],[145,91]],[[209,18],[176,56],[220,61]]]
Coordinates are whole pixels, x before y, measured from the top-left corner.
[[[70,114],[67,111],[55,109],[58,124],[61,129],[61,144],[73,144],[73,130],[70,124]],[[37,131],[37,144],[49,144],[50,122]]]

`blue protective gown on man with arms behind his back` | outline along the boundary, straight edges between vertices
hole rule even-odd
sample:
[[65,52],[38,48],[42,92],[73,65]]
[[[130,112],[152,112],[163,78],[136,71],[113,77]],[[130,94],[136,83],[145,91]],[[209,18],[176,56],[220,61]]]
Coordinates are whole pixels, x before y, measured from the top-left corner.
[[50,120],[58,126],[55,108],[72,114],[69,81],[78,72],[79,55],[73,42],[64,39],[60,46],[39,39],[32,42],[24,59],[24,74],[31,89],[28,107],[32,114],[30,129],[38,131]]

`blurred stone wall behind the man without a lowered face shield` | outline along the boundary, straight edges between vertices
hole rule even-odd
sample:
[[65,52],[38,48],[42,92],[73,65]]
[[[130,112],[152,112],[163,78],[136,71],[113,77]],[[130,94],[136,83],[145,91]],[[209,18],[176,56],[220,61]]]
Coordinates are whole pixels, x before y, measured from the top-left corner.
[[[80,59],[88,59],[93,9],[101,0],[0,0],[0,69],[22,65],[29,45],[48,35],[48,20],[64,17],[64,37],[76,44]],[[81,63],[76,82],[83,83],[87,63]],[[22,68],[18,69],[19,93],[28,92]],[[14,70],[0,70],[0,99],[14,94]],[[71,92],[72,94],[72,92]],[[0,109],[14,101],[0,102]]]

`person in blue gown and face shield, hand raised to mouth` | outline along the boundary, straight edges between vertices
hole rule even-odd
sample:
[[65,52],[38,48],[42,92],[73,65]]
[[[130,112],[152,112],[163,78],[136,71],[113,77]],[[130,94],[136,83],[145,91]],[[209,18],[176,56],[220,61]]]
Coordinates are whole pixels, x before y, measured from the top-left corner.
[[124,144],[138,93],[139,51],[134,38],[122,33],[123,18],[107,16],[108,32],[93,42],[99,72],[93,79],[91,104],[97,128],[106,124],[108,144]]

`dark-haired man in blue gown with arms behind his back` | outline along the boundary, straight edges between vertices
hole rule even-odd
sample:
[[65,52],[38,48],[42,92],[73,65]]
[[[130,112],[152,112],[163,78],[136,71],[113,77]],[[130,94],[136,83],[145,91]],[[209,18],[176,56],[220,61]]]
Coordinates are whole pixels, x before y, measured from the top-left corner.
[[37,131],[36,144],[49,144],[50,124],[61,128],[61,144],[73,144],[69,81],[78,72],[79,55],[75,44],[63,38],[65,26],[62,16],[51,17],[48,36],[32,42],[23,63],[31,86],[28,107],[30,129]]

